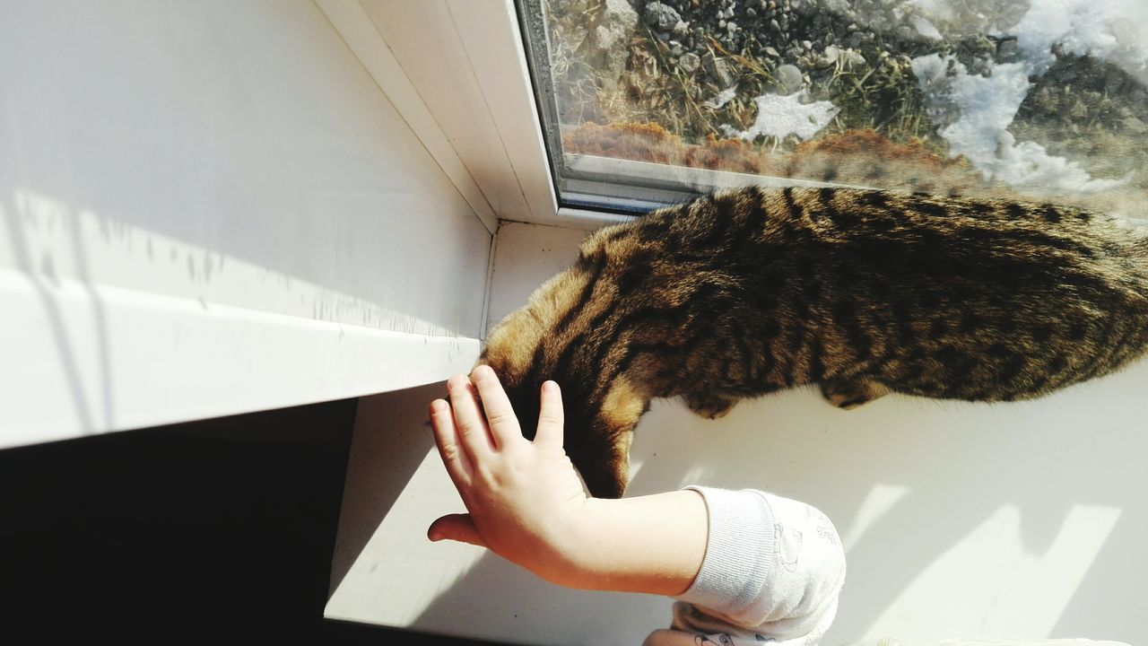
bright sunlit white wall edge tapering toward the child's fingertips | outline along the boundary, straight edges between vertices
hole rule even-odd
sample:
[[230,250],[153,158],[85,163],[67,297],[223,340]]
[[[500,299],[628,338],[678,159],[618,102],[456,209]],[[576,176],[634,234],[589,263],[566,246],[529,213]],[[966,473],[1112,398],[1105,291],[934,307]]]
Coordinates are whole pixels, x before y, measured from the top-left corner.
[[[0,448],[266,410],[437,382],[478,339],[284,316],[0,270],[5,330]],[[10,399],[9,399],[10,397]]]

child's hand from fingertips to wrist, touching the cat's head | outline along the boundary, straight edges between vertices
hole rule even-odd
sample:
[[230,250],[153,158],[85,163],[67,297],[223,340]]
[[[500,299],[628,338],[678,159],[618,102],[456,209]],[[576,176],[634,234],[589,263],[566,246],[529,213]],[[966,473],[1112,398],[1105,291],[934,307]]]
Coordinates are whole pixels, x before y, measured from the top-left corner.
[[[435,443],[470,514],[435,521],[432,540],[487,547],[553,583],[572,585],[580,515],[588,495],[563,451],[558,384],[542,386],[534,441],[522,437],[494,370],[474,369],[447,383],[450,403],[430,403]],[[478,395],[478,397],[475,397]]]

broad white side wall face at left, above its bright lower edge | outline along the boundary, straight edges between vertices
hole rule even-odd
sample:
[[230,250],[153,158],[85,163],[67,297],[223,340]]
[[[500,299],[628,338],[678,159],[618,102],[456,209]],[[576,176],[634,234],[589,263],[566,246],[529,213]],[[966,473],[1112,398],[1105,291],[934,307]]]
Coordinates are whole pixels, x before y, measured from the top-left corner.
[[296,315],[476,334],[489,233],[315,3],[69,7],[11,6],[0,30],[0,198],[72,207],[25,221],[84,233],[96,282],[218,290],[226,257]]

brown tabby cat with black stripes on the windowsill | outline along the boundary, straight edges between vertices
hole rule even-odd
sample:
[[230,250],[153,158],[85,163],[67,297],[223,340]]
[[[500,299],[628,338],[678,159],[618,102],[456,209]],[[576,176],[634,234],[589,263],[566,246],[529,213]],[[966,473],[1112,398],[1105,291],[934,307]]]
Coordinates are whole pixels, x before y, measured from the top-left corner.
[[[1148,230],[1073,207],[848,189],[747,187],[602,229],[489,334],[480,357],[523,423],[554,379],[590,492],[622,494],[651,398],[720,417],[819,384],[1010,401],[1148,346]],[[528,430],[528,434],[533,432]]]

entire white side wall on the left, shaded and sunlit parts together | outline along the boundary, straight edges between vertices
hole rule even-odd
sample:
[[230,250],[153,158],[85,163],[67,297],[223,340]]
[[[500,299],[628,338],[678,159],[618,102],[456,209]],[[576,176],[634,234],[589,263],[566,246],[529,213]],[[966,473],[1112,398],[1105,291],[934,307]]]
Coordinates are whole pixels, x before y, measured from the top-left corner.
[[410,386],[473,353],[490,234],[313,2],[3,16],[0,445]]

